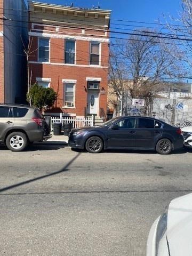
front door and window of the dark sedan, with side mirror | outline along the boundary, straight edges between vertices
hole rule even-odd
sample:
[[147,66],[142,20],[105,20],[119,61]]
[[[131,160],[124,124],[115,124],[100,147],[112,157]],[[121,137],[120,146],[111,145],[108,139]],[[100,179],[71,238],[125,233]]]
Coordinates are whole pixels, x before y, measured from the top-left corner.
[[125,118],[108,129],[108,147],[135,147],[135,121],[136,118]]

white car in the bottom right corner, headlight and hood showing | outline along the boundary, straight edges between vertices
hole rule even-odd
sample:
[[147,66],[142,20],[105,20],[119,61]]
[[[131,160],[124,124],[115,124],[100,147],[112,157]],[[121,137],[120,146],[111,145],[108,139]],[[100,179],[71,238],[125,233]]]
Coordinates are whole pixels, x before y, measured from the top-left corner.
[[175,198],[150,229],[147,256],[192,255],[192,193]]

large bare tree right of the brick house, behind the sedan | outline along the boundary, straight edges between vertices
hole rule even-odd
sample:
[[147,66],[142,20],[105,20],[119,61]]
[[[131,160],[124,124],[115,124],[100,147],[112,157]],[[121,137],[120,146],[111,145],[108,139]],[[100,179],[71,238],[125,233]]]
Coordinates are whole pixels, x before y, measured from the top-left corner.
[[124,99],[125,108],[125,94],[130,98],[145,99],[143,114],[147,114],[159,84],[179,76],[182,56],[175,45],[168,46],[163,38],[157,39],[154,36],[159,36],[157,32],[138,33],[137,30],[134,34],[112,46],[109,81],[118,98],[121,94]]

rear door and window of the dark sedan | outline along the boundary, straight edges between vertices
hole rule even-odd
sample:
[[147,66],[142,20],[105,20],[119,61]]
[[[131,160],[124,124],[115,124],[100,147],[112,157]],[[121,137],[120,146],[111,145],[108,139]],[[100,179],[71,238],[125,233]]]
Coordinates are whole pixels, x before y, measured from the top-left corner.
[[162,133],[162,124],[154,119],[139,117],[135,129],[135,146],[137,148],[154,149],[156,137]]

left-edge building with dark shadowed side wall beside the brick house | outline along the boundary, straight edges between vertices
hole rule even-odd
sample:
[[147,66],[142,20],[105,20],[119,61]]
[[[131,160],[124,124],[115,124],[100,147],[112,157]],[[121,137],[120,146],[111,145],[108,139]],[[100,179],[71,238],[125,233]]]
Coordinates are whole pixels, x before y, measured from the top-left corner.
[[[0,102],[25,103],[28,11],[24,0],[0,0]],[[21,40],[22,37],[22,40]]]

